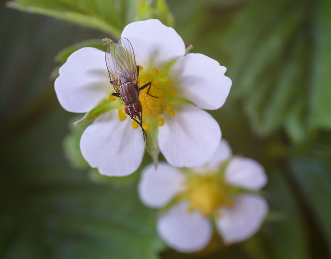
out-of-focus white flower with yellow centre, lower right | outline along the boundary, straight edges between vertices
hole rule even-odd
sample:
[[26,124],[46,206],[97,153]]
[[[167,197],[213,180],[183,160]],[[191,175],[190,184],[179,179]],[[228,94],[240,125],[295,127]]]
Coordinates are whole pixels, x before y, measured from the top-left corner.
[[228,143],[221,140],[203,167],[184,172],[160,163],[156,170],[153,165],[143,170],[140,199],[149,207],[167,209],[157,221],[157,231],[169,246],[181,252],[203,249],[212,237],[212,220],[225,243],[240,242],[260,228],[268,204],[253,191],[266,184],[267,176],[256,161],[230,159],[231,155]]

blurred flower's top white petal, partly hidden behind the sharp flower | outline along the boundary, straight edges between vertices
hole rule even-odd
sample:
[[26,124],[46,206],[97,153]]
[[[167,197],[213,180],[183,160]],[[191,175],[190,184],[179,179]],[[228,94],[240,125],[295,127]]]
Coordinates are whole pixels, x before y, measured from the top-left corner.
[[221,139],[220,145],[216,149],[212,159],[202,166],[193,167],[192,170],[197,173],[217,172],[221,164],[231,156],[232,150],[229,143],[225,139]]

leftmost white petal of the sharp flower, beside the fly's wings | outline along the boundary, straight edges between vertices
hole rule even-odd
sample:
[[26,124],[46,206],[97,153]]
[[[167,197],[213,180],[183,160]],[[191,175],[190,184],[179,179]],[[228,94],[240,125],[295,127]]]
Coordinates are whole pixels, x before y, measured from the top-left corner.
[[111,91],[105,53],[95,48],[82,48],[71,54],[59,74],[55,92],[69,112],[88,112]]

